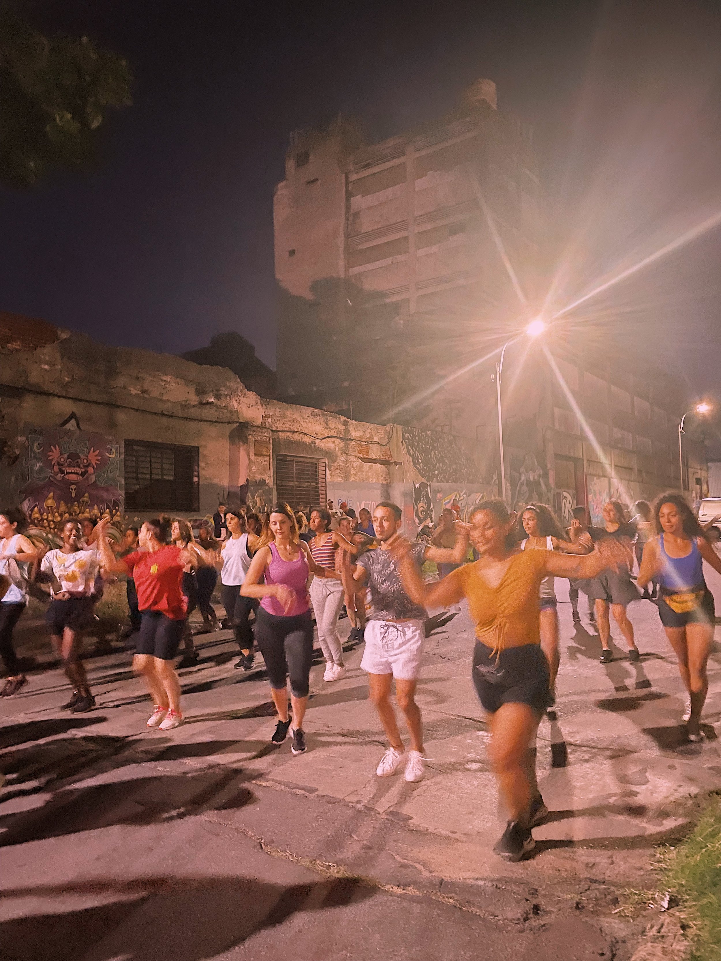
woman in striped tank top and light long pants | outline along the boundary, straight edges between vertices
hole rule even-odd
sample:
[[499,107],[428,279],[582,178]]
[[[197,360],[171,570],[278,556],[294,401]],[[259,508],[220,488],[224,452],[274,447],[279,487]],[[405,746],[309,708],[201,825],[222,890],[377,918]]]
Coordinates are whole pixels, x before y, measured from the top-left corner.
[[318,640],[326,659],[323,680],[339,680],[345,676],[343,644],[338,634],[338,614],[343,606],[343,585],[340,571],[336,571],[336,551],[357,554],[358,548],[331,527],[331,514],[325,507],[311,511],[311,530],[315,535],[309,542],[315,563],[325,569],[323,579],[313,578],[311,604],[315,613]]

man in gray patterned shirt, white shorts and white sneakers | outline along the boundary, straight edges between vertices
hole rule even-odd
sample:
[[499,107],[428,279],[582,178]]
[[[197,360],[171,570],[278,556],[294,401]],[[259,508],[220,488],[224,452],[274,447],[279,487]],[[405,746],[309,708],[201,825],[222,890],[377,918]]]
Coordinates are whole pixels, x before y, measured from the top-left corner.
[[[346,593],[370,590],[372,611],[365,627],[365,651],[360,667],[368,674],[370,700],[376,705],[390,747],[376,769],[380,777],[392,775],[406,756],[406,748],[396,723],[390,692],[395,679],[395,696],[406,717],[410,751],[406,763],[407,781],[423,776],[423,725],[415,702],[415,686],[420,672],[426,617],[424,607],[414,604],[401,582],[393,549],[401,539],[403,512],[397,504],[385,501],[373,511],[373,527],[380,546],[361,554],[350,568],[344,583]],[[468,530],[458,524],[460,536],[454,548],[414,544],[410,555],[420,566],[424,560],[460,564],[468,553]]]

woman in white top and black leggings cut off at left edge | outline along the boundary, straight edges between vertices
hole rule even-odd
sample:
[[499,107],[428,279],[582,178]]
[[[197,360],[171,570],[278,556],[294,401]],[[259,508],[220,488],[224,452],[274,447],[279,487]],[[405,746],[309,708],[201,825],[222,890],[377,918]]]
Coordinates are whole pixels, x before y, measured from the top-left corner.
[[15,694],[27,683],[12,644],[12,630],[28,603],[28,565],[37,558],[32,541],[23,535],[27,526],[25,514],[19,507],[0,514],[0,574],[10,580],[10,586],[0,602],[0,656],[8,672],[5,686],[0,690],[0,697],[3,698]]

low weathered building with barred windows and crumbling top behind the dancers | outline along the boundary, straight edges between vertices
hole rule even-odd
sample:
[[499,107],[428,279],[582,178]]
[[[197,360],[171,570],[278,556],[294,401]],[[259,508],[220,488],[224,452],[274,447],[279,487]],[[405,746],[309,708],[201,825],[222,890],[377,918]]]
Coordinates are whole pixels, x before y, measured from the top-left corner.
[[492,496],[479,456],[432,431],[264,400],[227,368],[0,315],[0,509],[22,504],[44,530],[106,510],[200,522],[221,501],[331,498],[395,500],[414,535],[443,505]]

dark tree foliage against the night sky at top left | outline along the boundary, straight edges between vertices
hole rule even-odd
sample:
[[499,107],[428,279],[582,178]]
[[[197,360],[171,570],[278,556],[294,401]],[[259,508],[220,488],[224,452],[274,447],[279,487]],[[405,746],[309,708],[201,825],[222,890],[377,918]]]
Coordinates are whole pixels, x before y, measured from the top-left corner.
[[29,187],[87,163],[107,113],[132,104],[132,83],[128,63],[87,37],[0,20],[0,182]]

